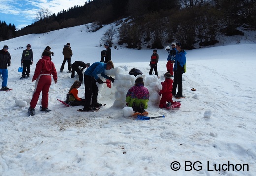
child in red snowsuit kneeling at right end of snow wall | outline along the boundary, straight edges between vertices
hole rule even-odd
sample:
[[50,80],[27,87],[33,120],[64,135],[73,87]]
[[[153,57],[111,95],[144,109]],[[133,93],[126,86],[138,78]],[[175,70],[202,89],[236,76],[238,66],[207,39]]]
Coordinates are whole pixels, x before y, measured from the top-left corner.
[[[170,73],[165,73],[164,74],[165,81],[161,82],[162,84],[162,90],[158,93],[159,95],[162,95],[162,98],[159,103],[160,108],[166,108],[169,107],[173,104],[172,101],[172,83],[173,80],[171,79],[171,74]],[[167,102],[167,103],[166,103]]]

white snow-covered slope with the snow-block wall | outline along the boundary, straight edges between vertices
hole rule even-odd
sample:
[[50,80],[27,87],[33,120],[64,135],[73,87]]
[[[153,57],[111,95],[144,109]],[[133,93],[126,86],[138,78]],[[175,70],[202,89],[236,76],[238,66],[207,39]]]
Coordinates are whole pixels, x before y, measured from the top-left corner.
[[[149,75],[152,49],[122,46],[112,47],[115,68],[108,74],[116,78],[114,85],[111,89],[100,85],[98,102],[107,105],[98,112],[65,107],[57,99],[65,100],[77,77],[66,73],[67,63],[60,73],[64,45],[71,44],[72,62],[100,61],[104,47],[99,40],[110,26],[91,33],[80,25],[0,42],[0,48],[9,46],[7,86],[13,88],[0,92],[0,176],[255,176],[255,33],[223,39],[214,47],[186,50],[186,98],[180,99],[177,110],[158,108],[167,52],[158,50],[157,79]],[[52,111],[40,112],[38,101],[32,117],[27,109],[35,83],[32,78],[20,80],[18,72],[27,44],[34,53],[31,77],[46,46],[54,52],[52,61],[58,71],[58,82],[52,82],[49,90]],[[23,49],[13,50],[20,46]],[[132,68],[143,72],[150,91],[148,116],[165,118],[124,117],[124,98],[135,81],[128,75]],[[78,90],[83,98],[84,86]],[[174,171],[178,162],[180,169]]]

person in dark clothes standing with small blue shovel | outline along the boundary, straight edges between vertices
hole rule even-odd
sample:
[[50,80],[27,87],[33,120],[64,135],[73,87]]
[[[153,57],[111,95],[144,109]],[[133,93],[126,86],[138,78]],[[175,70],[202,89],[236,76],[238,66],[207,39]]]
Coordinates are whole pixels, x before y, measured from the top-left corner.
[[27,75],[27,78],[30,77],[30,65],[33,64],[33,51],[30,44],[28,44],[26,49],[22,52],[21,63],[23,67],[21,78],[25,78],[25,75]]

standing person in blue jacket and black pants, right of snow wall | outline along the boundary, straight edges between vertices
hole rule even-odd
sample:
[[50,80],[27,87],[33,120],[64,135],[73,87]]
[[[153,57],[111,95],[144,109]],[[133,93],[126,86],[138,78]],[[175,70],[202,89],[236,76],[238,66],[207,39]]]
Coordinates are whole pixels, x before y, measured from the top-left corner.
[[[172,86],[172,95],[175,98],[182,98],[182,74],[186,72],[186,52],[181,49],[181,43],[176,43],[175,63],[173,67],[174,79]],[[176,88],[178,86],[178,92],[176,94]]]

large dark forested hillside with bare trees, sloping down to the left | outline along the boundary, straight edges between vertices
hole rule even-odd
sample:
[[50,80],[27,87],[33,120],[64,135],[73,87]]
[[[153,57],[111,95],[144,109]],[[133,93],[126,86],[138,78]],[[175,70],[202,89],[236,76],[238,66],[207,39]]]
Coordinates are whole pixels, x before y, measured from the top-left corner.
[[[118,33],[119,44],[128,48],[162,48],[164,42],[179,41],[183,48],[195,43],[212,45],[220,33],[243,35],[237,27],[256,28],[256,0],[92,0],[56,14],[43,10],[38,21],[16,32],[16,36],[44,33],[66,27],[116,21],[118,31],[106,31],[111,43]],[[119,20],[128,17],[124,22]],[[8,38],[8,37],[7,37]]]

